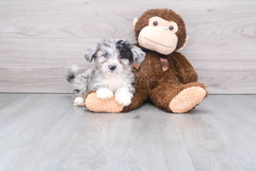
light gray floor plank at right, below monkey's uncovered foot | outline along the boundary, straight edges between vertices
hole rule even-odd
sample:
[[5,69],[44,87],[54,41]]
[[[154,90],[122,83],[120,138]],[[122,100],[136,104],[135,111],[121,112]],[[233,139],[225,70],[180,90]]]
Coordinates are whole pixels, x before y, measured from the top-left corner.
[[254,104],[249,95],[210,95],[186,118],[179,118],[178,127],[197,170],[256,168]]

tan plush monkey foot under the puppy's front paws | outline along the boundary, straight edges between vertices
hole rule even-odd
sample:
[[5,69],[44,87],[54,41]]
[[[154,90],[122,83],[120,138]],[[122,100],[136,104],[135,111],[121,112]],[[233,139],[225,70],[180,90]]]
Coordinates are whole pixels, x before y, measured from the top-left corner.
[[97,93],[91,93],[85,99],[86,107],[93,112],[119,113],[123,110],[122,105],[115,101],[115,97],[109,100],[101,100],[97,98]]

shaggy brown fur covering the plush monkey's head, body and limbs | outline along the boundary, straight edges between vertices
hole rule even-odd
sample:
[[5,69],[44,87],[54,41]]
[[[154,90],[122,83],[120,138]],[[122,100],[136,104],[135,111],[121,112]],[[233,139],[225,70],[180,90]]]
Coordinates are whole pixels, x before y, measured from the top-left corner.
[[[151,9],[146,11],[138,19],[135,25],[135,36],[138,39],[142,28],[148,26],[148,20],[151,17],[158,16],[164,20],[175,21],[178,25],[178,31],[175,33],[178,37],[176,49],[181,48],[186,39],[186,28],[182,18],[168,9]],[[128,112],[141,106],[149,98],[157,106],[172,112],[169,108],[171,100],[182,90],[198,86],[205,90],[205,86],[197,82],[197,73],[193,66],[181,53],[173,52],[166,55],[169,68],[162,71],[160,54],[155,51],[142,48],[147,53],[145,60],[137,70],[135,67],[132,72],[135,75],[135,94],[130,105],[125,106],[122,112]],[[206,93],[207,97],[208,92]],[[85,98],[86,99],[86,98]]]

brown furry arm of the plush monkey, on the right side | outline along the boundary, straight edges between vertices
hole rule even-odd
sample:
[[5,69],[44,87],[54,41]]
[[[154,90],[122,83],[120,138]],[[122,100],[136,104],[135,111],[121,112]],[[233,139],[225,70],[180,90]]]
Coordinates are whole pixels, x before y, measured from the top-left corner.
[[179,81],[182,84],[197,82],[197,73],[188,59],[181,53],[174,52],[172,57],[178,72]]

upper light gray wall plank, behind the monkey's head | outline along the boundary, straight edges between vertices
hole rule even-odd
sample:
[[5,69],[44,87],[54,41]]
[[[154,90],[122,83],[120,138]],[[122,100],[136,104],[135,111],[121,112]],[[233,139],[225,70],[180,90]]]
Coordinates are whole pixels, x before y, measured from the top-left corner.
[[171,8],[189,37],[256,38],[256,1],[0,1],[0,37],[133,37],[132,21],[151,8]]

